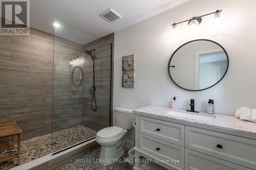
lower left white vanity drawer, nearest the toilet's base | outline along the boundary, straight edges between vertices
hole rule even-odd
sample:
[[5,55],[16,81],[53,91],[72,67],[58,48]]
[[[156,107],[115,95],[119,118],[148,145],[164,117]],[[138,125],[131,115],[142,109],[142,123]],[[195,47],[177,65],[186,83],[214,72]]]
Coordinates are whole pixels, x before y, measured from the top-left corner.
[[184,168],[184,148],[179,145],[140,133],[139,150]]

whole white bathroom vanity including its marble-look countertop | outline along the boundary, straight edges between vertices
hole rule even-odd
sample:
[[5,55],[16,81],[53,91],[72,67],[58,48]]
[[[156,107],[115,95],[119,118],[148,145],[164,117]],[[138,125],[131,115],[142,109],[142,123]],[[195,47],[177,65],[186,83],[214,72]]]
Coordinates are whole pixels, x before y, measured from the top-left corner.
[[[150,159],[172,170],[256,169],[255,123],[234,116],[205,116],[160,106],[134,111],[137,160]],[[144,169],[143,163],[135,161],[133,169]]]

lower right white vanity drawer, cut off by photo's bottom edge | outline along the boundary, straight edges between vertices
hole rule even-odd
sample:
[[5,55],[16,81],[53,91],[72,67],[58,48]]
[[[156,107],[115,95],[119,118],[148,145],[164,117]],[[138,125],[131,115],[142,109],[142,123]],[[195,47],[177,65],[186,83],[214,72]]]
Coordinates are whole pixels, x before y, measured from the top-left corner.
[[251,170],[222,159],[185,149],[185,170]]

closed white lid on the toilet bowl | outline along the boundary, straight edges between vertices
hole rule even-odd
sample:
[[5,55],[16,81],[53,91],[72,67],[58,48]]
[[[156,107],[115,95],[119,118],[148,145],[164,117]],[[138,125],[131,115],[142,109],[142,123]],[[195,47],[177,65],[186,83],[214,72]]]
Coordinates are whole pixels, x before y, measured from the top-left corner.
[[97,136],[100,138],[112,138],[120,135],[123,132],[122,128],[113,126],[113,127],[108,127],[100,130],[97,133]]

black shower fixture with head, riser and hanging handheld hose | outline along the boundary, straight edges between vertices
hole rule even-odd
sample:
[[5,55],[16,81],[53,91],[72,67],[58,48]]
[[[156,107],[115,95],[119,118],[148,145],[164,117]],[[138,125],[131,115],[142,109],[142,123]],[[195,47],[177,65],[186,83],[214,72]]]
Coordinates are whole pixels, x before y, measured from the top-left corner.
[[[94,52],[94,53],[92,53]],[[95,87],[95,60],[97,59],[97,57],[95,56],[95,49],[91,50],[91,51],[84,51],[84,53],[88,54],[89,56],[91,56],[92,60],[93,60],[93,86],[90,89],[90,94],[92,95],[92,100],[91,100],[91,108],[93,111],[97,110],[97,103],[96,103],[96,87]]]

